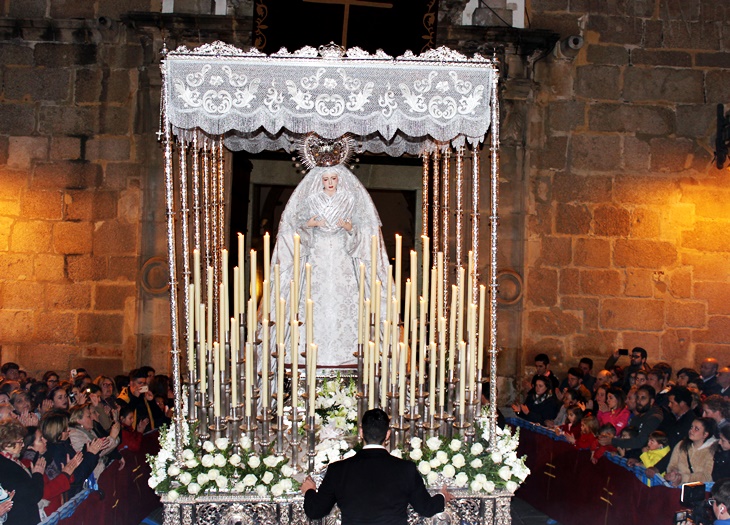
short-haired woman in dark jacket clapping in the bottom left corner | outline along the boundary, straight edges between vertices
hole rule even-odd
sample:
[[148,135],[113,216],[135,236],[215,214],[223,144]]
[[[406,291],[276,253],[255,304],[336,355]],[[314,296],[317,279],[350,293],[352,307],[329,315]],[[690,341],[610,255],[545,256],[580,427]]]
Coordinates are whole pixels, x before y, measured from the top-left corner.
[[20,462],[25,434],[19,421],[0,421],[0,480],[6,491],[15,491],[13,507],[8,512],[8,523],[12,525],[35,525],[40,521],[38,502],[43,497],[46,460],[40,458],[30,470]]

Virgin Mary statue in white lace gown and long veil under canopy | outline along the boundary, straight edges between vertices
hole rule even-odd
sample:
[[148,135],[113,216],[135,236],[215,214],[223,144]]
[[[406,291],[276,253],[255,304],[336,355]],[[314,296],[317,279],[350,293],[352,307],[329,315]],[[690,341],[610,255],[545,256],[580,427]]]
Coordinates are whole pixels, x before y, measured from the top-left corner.
[[[371,265],[376,265],[377,279],[383,288],[388,275],[388,257],[380,226],[370,194],[342,164],[318,166],[309,171],[284,209],[271,264],[280,266],[287,311],[291,299],[288,283],[298,279],[300,293],[296,307],[302,321],[305,320],[306,264],[312,267],[313,340],[318,345],[319,366],[355,366],[360,264],[365,265],[366,298],[370,292]],[[294,234],[301,239],[300,275],[297,276],[293,275]],[[374,261],[371,260],[372,236],[376,238]],[[304,337],[300,337],[299,348],[301,355]]]

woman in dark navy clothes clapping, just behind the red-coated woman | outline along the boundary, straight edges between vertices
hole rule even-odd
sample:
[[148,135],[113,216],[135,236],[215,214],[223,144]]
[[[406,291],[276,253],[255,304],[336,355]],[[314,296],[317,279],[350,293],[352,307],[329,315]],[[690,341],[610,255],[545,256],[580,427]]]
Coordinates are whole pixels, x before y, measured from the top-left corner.
[[[47,473],[50,478],[57,476],[63,467],[76,456],[69,439],[68,413],[52,411],[41,419],[41,433],[47,442],[45,458],[48,462]],[[104,440],[95,439],[82,452],[81,464],[74,470],[74,479],[68,496],[76,494],[93,472],[99,462],[99,452],[104,448]]]

